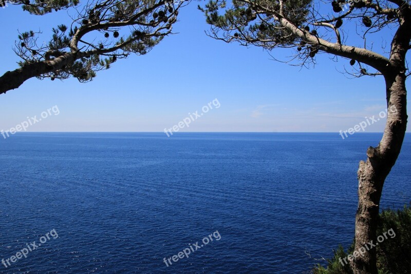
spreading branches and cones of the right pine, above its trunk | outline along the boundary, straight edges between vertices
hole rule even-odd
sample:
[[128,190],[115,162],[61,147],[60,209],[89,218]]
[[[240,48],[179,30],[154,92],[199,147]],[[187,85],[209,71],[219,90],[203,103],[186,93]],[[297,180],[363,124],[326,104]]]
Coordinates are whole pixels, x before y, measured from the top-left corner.
[[[388,39],[383,45],[383,41],[373,41],[378,37],[374,34],[398,29],[393,35],[401,35],[404,29],[399,28],[400,17],[409,16],[409,0],[234,0],[229,5],[226,0],[212,0],[199,9],[211,25],[208,35],[212,38],[270,51],[293,48],[293,57],[287,61],[298,60],[301,65],[315,63],[316,54],[324,51],[351,59],[351,65],[358,65],[356,76],[374,76],[386,70],[389,63],[389,56],[383,54]],[[348,38],[353,35],[361,40],[349,45],[353,39]],[[376,50],[376,43],[382,44],[382,49]],[[364,64],[377,71],[370,71]]]

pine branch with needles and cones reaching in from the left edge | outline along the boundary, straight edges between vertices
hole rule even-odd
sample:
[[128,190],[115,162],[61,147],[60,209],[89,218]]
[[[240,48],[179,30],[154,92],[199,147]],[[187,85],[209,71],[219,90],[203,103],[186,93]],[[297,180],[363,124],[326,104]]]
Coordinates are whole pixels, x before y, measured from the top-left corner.
[[[62,5],[63,2],[67,5]],[[48,6],[42,6],[42,0],[36,0],[38,6],[25,4],[23,8],[44,14],[52,5],[68,8],[77,4],[77,0],[63,2],[51,0],[47,1]],[[172,34],[178,11],[185,5],[184,1],[169,0],[90,1],[76,9],[70,27],[61,24],[52,28],[48,44],[38,43],[40,33],[31,30],[20,33],[14,48],[22,58],[18,63],[20,68],[0,77],[0,94],[33,77],[54,80],[72,76],[88,82],[96,76],[96,71],[108,69],[110,64],[131,53],[146,54]]]

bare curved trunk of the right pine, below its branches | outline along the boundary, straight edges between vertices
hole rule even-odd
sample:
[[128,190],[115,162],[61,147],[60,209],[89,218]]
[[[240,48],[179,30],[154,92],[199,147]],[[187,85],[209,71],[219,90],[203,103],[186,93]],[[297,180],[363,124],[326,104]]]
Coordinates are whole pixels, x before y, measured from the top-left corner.
[[[404,71],[386,74],[387,122],[384,135],[376,148],[368,148],[367,160],[358,169],[358,209],[356,215],[354,273],[377,273],[377,222],[384,180],[400,154],[407,123],[406,89]],[[371,242],[372,241],[372,242]],[[364,250],[364,248],[362,250]],[[369,250],[368,250],[369,249]]]

